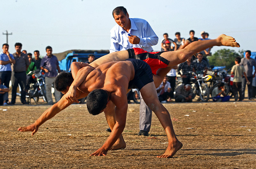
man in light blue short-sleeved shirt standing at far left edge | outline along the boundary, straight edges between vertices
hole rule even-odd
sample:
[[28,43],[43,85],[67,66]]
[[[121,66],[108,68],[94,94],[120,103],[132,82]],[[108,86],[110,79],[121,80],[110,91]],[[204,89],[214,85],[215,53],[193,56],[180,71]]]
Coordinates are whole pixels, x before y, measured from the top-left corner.
[[[11,64],[15,64],[15,59],[11,53],[8,52],[9,45],[3,44],[3,52],[0,54],[0,78],[1,84],[9,88],[9,83],[12,76]],[[8,94],[6,103],[9,101]]]

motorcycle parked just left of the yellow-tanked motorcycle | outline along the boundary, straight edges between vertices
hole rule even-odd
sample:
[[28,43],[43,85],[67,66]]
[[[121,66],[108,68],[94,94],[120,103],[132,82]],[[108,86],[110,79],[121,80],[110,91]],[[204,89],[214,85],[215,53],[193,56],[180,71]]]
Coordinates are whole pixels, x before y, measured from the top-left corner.
[[194,72],[189,71],[190,74],[190,85],[193,90],[193,95],[198,95],[203,102],[207,102],[210,98],[210,89],[207,84],[204,83],[204,79],[207,77],[203,77],[203,74],[195,74]]

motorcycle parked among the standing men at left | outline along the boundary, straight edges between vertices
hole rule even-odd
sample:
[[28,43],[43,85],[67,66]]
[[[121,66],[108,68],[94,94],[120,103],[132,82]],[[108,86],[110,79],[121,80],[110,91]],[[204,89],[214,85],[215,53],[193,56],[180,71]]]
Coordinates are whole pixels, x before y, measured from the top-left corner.
[[37,103],[39,97],[43,97],[44,102],[47,102],[44,72],[42,72],[42,70],[34,70],[30,71],[28,74],[31,73],[33,73],[32,78],[34,81],[29,84],[28,93],[26,94],[27,102],[31,103],[31,99],[33,99]]

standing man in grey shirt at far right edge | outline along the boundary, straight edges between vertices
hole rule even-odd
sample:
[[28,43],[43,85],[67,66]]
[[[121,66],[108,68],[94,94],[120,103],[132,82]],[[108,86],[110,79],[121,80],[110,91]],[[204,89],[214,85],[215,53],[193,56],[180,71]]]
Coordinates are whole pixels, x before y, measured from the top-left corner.
[[[251,51],[249,51],[249,50],[245,51],[245,58],[241,59],[240,65],[244,66],[245,74],[247,75],[247,79],[250,82],[250,83],[247,83],[248,99],[253,100],[253,98],[252,98],[252,78],[255,77],[256,71],[254,71],[254,74],[252,74],[252,70],[253,70],[253,66],[254,66],[254,69],[256,69],[256,61],[255,61],[255,59],[251,58]],[[245,86],[246,86],[246,79],[245,79],[245,77],[243,77],[243,81],[242,81],[243,100],[244,100]]]

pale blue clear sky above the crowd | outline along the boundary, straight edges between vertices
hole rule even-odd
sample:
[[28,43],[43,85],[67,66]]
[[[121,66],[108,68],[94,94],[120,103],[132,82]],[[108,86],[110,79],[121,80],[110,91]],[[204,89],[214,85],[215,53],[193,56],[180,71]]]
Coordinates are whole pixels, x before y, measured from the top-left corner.
[[[195,37],[200,32],[215,39],[221,33],[233,36],[241,45],[239,49],[256,51],[256,1],[255,0],[0,0],[0,42],[6,43],[14,53],[14,44],[33,53],[45,55],[45,47],[52,46],[53,53],[70,49],[108,50],[110,29],[116,25],[112,11],[124,6],[130,18],[148,21],[160,40],[167,32],[174,39],[175,32],[188,39],[193,29]],[[212,52],[224,47],[213,47]]]

